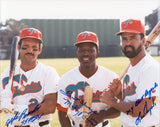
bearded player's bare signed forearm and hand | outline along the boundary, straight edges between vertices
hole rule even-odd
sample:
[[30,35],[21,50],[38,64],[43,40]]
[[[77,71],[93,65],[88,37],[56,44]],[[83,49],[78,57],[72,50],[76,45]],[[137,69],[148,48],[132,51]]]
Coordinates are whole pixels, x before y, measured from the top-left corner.
[[110,91],[105,91],[101,97],[101,100],[116,108],[120,112],[124,112],[132,117],[143,117],[146,115],[150,109],[154,106],[154,101],[156,97],[139,99],[134,102],[123,102],[122,100],[113,97]]

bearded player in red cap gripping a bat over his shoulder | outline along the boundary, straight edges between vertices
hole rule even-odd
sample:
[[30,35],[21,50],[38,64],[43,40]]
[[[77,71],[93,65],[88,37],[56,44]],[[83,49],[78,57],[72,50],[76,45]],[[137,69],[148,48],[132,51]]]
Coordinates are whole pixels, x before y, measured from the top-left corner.
[[[159,127],[160,65],[146,54],[145,27],[140,20],[121,24],[122,51],[130,60],[123,84],[117,78],[102,94],[102,102],[118,109],[123,127]],[[121,91],[122,90],[122,91]],[[122,99],[115,96],[122,92]]]

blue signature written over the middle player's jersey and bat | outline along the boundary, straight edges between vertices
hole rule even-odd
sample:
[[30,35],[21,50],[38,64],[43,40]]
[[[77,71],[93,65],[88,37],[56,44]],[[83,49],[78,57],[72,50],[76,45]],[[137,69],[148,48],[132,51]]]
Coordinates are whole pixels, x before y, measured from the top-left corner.
[[[63,91],[63,90],[60,90],[60,92],[62,93],[62,94],[64,94],[64,95],[66,95],[66,96],[68,96],[68,94],[65,92],[65,91]],[[70,97],[70,96],[69,96]],[[64,102],[64,104],[66,104],[66,105],[68,105],[69,107],[71,107],[72,106],[72,108],[74,109],[74,108],[76,108],[76,106],[74,106],[74,105],[72,105],[72,102],[70,101],[70,100],[68,100],[68,99],[66,99],[66,98],[63,98],[64,100],[65,100],[65,102]],[[73,99],[73,100],[80,100],[79,98],[77,98],[77,97],[71,97],[71,99]],[[90,107],[88,107],[87,105],[86,105],[86,102],[84,102],[83,100],[81,100],[81,104],[83,105],[83,106],[85,106],[86,108],[88,108],[89,110],[90,110],[90,112],[86,112],[86,111],[82,111],[82,112],[80,112],[80,111],[77,111],[77,113],[75,113],[73,116],[81,116],[81,118],[83,119],[83,120],[85,120],[85,119],[87,119],[93,126],[96,126],[98,123],[97,123],[97,121],[95,120],[95,119],[88,119],[88,116],[91,114],[91,113],[94,113],[94,114],[97,114],[96,113],[96,111],[93,111]],[[86,115],[84,115],[84,114],[86,114]]]

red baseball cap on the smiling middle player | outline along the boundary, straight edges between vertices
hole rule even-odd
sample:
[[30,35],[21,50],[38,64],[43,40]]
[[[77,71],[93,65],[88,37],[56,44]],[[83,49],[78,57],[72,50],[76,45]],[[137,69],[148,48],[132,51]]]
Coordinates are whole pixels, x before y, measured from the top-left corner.
[[74,45],[77,46],[78,44],[81,44],[84,42],[93,43],[99,48],[99,41],[96,33],[93,33],[91,31],[81,32],[80,34],[78,34],[77,42],[74,43]]

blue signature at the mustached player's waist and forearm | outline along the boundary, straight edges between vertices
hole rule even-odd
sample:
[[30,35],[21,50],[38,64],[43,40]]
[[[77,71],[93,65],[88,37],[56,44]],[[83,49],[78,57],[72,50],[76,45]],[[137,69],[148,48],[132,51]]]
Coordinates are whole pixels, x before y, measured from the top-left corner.
[[35,120],[39,120],[42,117],[43,114],[42,115],[31,116],[29,118],[28,118],[28,116],[30,114],[34,113],[35,111],[39,110],[40,107],[41,107],[40,105],[37,105],[34,108],[34,110],[30,111],[29,113],[27,113],[28,108],[24,109],[22,113],[17,112],[14,115],[14,117],[12,117],[12,118],[10,118],[6,121],[6,125],[9,125],[9,124],[12,125],[15,120],[18,120],[18,121],[21,121],[20,126],[24,126],[27,123],[29,124],[30,122],[34,122]]

